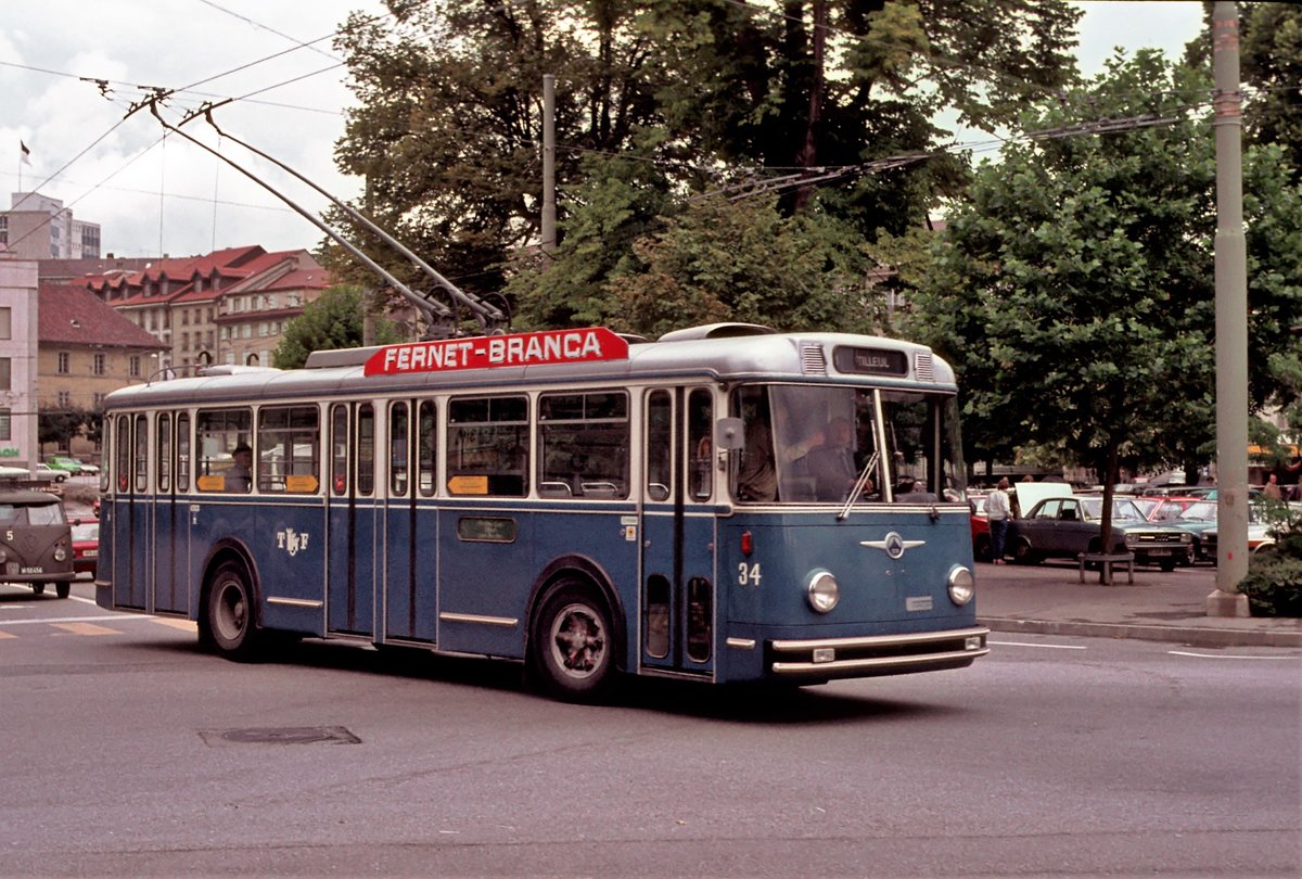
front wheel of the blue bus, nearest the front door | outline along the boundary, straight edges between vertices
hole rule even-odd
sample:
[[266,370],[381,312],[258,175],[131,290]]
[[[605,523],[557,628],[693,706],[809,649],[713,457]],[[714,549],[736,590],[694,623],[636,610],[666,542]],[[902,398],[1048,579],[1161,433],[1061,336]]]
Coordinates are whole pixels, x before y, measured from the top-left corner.
[[533,658],[544,689],[566,702],[594,702],[615,684],[615,639],[605,602],[566,581],[534,619]]

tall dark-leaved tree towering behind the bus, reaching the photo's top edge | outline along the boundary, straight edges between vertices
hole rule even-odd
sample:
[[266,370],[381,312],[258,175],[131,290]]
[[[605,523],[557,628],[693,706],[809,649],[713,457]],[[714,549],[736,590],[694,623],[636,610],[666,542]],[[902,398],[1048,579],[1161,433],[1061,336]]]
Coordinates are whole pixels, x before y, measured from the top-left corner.
[[[950,108],[971,124],[1008,121],[1027,96],[1070,82],[1079,14],[1065,0],[391,8],[392,20],[355,17],[341,40],[361,107],[336,158],[366,176],[370,212],[470,292],[500,289],[508,259],[538,238],[542,77],[557,77],[559,214],[581,241],[547,259],[579,283],[572,297],[559,284],[531,297],[531,324],[609,310],[607,277],[691,193],[789,177],[786,215],[816,206],[861,236],[922,221],[965,181],[931,120]],[[905,152],[932,158],[865,172]],[[570,259],[581,264],[562,267]]]

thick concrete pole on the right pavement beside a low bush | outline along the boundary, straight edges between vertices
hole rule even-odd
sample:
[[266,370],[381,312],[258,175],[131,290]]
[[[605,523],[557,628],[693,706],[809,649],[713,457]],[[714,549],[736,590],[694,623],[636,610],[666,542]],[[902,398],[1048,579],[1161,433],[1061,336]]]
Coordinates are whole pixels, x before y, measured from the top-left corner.
[[1249,616],[1247,574],[1247,245],[1243,237],[1242,94],[1238,4],[1212,12],[1216,132],[1216,591],[1208,616]]

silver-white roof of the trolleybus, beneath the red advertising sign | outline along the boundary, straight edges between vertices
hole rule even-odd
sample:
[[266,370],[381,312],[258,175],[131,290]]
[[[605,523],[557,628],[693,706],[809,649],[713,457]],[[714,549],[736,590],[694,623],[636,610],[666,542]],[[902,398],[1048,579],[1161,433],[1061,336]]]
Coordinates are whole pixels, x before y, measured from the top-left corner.
[[[105,408],[141,408],[246,398],[323,397],[483,388],[523,384],[639,380],[792,380],[829,379],[897,387],[956,391],[953,369],[930,348],[914,342],[850,333],[793,332],[728,335],[713,327],[671,333],[669,340],[628,345],[628,356],[575,363],[458,369],[398,375],[366,375],[366,363],[393,346],[319,352],[301,370],[216,366],[194,378],[135,384],[108,395]],[[510,337],[478,337],[490,339]],[[462,340],[473,341],[473,340]],[[318,366],[320,365],[320,366]]]

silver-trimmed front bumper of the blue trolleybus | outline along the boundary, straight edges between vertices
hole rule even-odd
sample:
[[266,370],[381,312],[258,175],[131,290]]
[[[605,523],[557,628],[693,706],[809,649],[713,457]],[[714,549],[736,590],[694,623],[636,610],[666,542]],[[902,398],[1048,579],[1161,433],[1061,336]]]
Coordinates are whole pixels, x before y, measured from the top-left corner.
[[990,629],[952,629],[867,638],[769,641],[766,664],[781,680],[831,681],[963,668],[990,652]]

